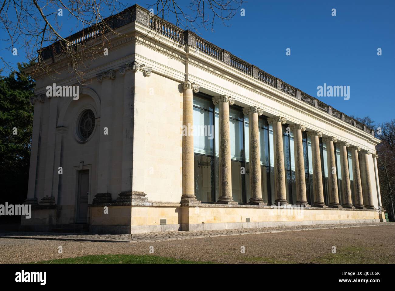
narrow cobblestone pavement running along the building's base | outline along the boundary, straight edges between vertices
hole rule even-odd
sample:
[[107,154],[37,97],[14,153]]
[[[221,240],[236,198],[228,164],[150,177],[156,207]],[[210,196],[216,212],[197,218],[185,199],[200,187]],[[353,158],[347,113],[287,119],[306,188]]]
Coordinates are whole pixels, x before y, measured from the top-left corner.
[[172,231],[150,232],[145,234],[73,234],[54,232],[8,232],[0,234],[0,238],[22,238],[36,240],[73,240],[83,242],[162,242],[169,240],[187,240],[190,238],[207,238],[218,236],[239,236],[243,234],[265,234],[273,232],[289,232],[330,228],[350,228],[362,226],[382,226],[393,223],[349,223],[349,224],[316,224],[300,226],[278,226],[265,228],[241,228],[205,231]]

